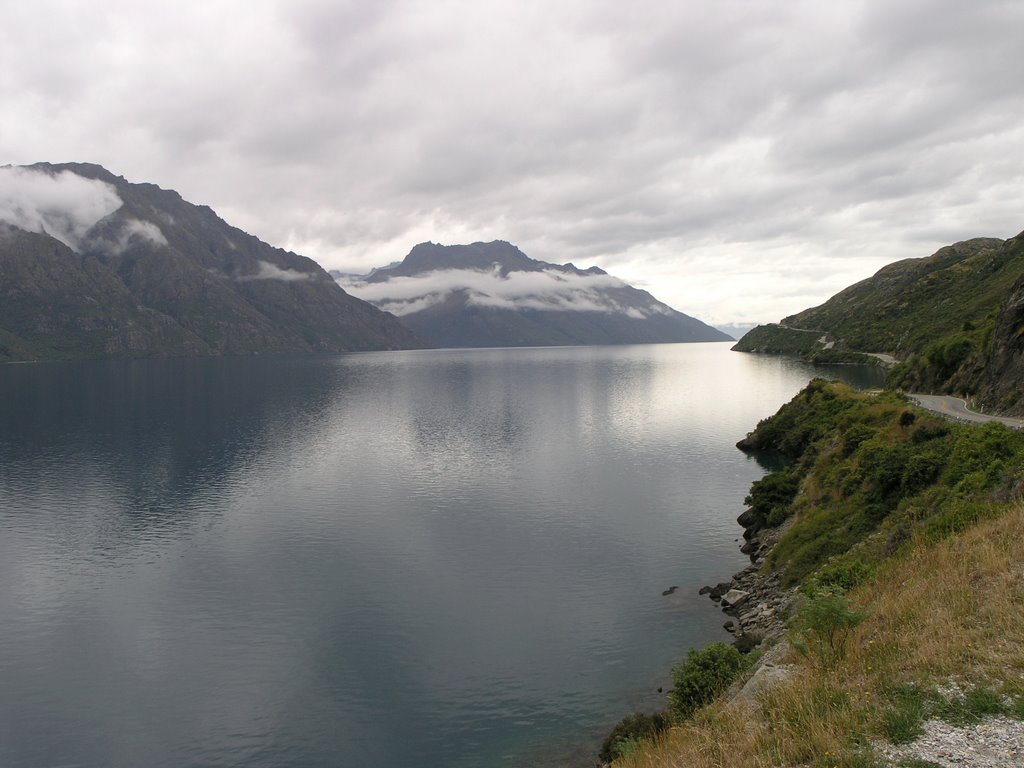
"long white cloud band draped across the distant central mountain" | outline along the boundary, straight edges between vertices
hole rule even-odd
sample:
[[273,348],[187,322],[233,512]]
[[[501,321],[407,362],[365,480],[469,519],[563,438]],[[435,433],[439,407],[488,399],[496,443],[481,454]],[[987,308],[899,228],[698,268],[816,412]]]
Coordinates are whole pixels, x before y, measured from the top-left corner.
[[396,276],[383,283],[364,283],[352,278],[339,284],[353,296],[398,316],[422,311],[465,296],[474,306],[499,309],[542,309],[563,312],[612,312],[642,318],[670,312],[651,301],[645,307],[626,306],[614,291],[628,286],[610,274],[577,274],[558,269],[512,271],[502,275],[500,267],[482,269],[436,269],[413,276]]

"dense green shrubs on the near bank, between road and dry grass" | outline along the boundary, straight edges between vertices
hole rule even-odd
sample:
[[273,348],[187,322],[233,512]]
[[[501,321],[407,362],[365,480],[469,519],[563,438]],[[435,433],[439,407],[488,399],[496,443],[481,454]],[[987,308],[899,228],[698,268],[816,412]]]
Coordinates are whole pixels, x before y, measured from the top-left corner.
[[[756,482],[750,497],[767,523],[795,518],[768,558],[787,584],[813,574],[853,586],[914,536],[963,529],[1024,487],[1024,433],[953,424],[894,392],[816,380],[751,439],[795,461]],[[761,501],[761,486],[779,475],[800,488],[781,507]]]

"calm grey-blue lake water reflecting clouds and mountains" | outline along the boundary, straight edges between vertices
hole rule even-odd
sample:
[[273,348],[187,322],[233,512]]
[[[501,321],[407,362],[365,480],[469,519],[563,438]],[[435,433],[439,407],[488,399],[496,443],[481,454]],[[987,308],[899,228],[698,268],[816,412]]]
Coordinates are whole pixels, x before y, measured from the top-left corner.
[[0,765],[592,764],[727,638],[696,590],[745,563],[734,443],[815,374],[727,344],[0,367]]

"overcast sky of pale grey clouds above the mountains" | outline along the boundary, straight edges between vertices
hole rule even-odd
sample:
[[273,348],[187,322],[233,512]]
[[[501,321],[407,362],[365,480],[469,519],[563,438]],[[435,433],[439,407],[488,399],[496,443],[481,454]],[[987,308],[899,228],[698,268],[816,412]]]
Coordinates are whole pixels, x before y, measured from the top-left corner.
[[33,0],[0,164],[99,163],[328,268],[508,240],[712,323],[1024,229],[1024,2]]

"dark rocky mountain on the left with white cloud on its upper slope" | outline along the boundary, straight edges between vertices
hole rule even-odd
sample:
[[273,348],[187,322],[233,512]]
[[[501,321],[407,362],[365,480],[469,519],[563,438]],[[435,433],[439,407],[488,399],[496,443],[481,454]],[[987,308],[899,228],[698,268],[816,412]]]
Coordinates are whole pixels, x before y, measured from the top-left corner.
[[425,345],[175,191],[89,164],[0,168],[0,360]]

